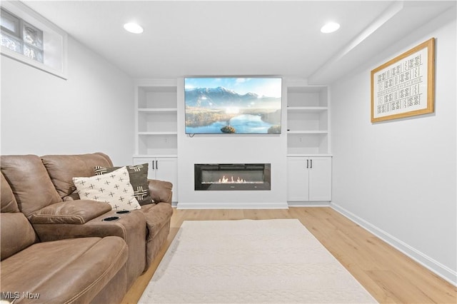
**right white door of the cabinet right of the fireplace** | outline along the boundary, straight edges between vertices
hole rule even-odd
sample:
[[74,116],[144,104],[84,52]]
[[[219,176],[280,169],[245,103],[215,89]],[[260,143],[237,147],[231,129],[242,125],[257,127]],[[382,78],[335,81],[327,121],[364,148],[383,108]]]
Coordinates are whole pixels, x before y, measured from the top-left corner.
[[331,201],[331,157],[313,157],[309,161],[309,201]]

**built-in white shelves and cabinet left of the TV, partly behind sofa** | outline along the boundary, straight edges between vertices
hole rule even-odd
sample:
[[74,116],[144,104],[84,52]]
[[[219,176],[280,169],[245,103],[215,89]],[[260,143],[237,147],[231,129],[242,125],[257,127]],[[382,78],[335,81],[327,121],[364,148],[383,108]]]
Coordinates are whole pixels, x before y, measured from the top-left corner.
[[178,95],[176,80],[135,83],[134,164],[148,163],[148,178],[173,183],[178,201]]

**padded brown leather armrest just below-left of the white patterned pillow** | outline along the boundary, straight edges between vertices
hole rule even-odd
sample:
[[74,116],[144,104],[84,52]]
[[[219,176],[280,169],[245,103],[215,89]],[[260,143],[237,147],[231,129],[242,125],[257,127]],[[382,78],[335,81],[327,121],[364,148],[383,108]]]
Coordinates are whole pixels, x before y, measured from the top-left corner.
[[84,224],[109,211],[109,203],[89,200],[64,201],[41,208],[29,216],[29,221],[32,224]]

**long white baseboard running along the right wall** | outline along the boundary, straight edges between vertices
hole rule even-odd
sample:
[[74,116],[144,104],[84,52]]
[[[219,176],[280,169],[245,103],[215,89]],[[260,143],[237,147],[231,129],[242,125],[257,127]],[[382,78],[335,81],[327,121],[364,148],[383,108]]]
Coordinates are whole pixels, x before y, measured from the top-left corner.
[[420,251],[404,243],[403,241],[398,240],[398,238],[393,237],[393,235],[386,233],[386,231],[372,225],[371,223],[368,223],[362,218],[359,218],[350,211],[347,211],[345,208],[338,206],[335,203],[331,203],[330,206],[331,208],[333,208],[333,210],[337,211],[338,213],[341,213],[346,218],[350,219],[362,228],[373,233],[373,235],[376,235],[378,238],[381,238],[381,240],[393,246],[393,248],[396,248],[402,253],[408,255],[408,257],[412,258],[417,263],[423,265],[423,267],[427,268],[428,270],[431,270],[433,273],[436,273],[436,275],[440,276],[441,278],[453,284],[454,286],[457,286],[456,271],[453,271],[451,268],[448,268],[447,266],[442,265],[438,261],[433,260],[433,258],[430,258],[428,255],[421,253]]

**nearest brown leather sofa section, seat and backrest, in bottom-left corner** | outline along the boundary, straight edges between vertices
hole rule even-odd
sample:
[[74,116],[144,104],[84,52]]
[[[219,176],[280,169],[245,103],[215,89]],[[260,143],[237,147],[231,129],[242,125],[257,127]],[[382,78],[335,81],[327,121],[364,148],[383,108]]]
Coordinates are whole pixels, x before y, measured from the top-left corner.
[[117,236],[39,242],[1,174],[1,298],[14,303],[119,303],[126,242]]

